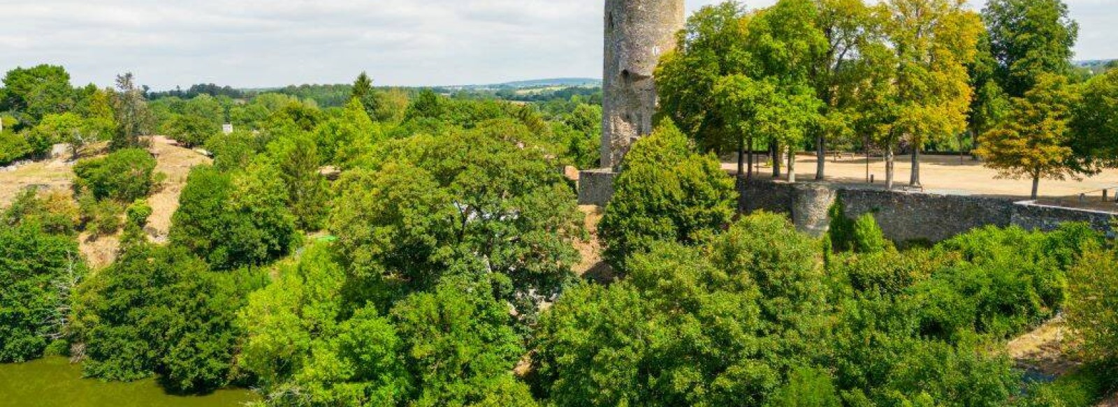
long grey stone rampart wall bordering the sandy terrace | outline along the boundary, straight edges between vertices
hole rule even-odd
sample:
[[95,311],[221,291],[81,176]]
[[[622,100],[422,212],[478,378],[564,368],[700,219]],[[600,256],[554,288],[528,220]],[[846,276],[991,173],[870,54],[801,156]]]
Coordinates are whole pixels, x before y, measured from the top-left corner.
[[768,181],[739,181],[738,190],[741,211],[764,209],[789,215],[797,229],[814,236],[826,231],[827,209],[836,198],[845,204],[847,217],[873,214],[885,237],[900,244],[940,242],[987,225],[1051,230],[1063,223],[1086,221],[1098,230],[1115,233],[1110,226],[1111,214],[997,198]]

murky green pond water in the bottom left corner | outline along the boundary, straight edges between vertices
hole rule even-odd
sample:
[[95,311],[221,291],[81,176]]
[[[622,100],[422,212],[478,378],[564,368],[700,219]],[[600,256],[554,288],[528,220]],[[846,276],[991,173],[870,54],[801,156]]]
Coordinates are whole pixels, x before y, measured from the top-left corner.
[[66,358],[0,365],[0,406],[3,407],[234,407],[256,399],[248,390],[172,396],[154,379],[133,382],[83,379],[82,367],[70,365]]

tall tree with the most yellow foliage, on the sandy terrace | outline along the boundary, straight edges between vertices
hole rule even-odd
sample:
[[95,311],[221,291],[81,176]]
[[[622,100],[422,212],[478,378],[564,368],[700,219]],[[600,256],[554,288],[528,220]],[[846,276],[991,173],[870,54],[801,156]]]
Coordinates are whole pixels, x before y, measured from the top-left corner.
[[[920,149],[932,138],[966,130],[972,89],[967,64],[983,31],[964,0],[889,0],[884,32],[896,54],[897,116],[891,131],[912,148],[912,186],[920,184]],[[887,146],[891,150],[892,145]],[[892,154],[887,152],[887,183],[892,187]]]

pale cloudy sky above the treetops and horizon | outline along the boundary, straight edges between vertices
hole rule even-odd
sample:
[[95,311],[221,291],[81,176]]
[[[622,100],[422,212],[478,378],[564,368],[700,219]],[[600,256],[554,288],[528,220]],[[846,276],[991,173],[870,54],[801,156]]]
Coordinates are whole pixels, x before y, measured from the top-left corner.
[[[686,0],[688,12],[718,1]],[[1118,58],[1118,0],[1064,1],[1080,23],[1076,58]],[[154,89],[349,83],[362,70],[392,86],[600,77],[603,9],[603,0],[0,0],[0,72],[63,65],[76,85],[102,86],[132,72]]]

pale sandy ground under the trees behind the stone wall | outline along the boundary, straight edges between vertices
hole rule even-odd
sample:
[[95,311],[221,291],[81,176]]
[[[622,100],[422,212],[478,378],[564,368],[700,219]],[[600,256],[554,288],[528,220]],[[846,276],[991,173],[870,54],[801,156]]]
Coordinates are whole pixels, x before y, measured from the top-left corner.
[[[864,157],[851,154],[844,155],[839,160],[828,158],[826,162],[826,181],[865,184],[865,161]],[[815,164],[814,154],[800,154],[796,157],[796,180],[814,180]],[[737,170],[737,161],[723,158],[722,168],[733,172]],[[912,168],[911,157],[898,155],[894,168],[894,182],[897,184],[908,184]],[[762,165],[760,174],[762,179],[771,178],[773,170],[770,167]],[[871,158],[870,174],[874,176],[877,184],[884,186],[885,163],[881,157]],[[922,155],[920,160],[920,181],[923,183],[926,191],[934,193],[1006,197],[1024,200],[1029,199],[1029,193],[1032,190],[1031,180],[998,179],[997,172],[983,167],[982,162],[974,161],[969,157],[960,162],[957,155]],[[1059,198],[1093,191],[1093,196],[1101,198],[1101,192],[1098,190],[1103,188],[1110,189],[1110,197],[1112,198],[1115,189],[1118,188],[1118,170],[1107,170],[1083,180],[1041,180],[1040,195],[1041,197]]]

